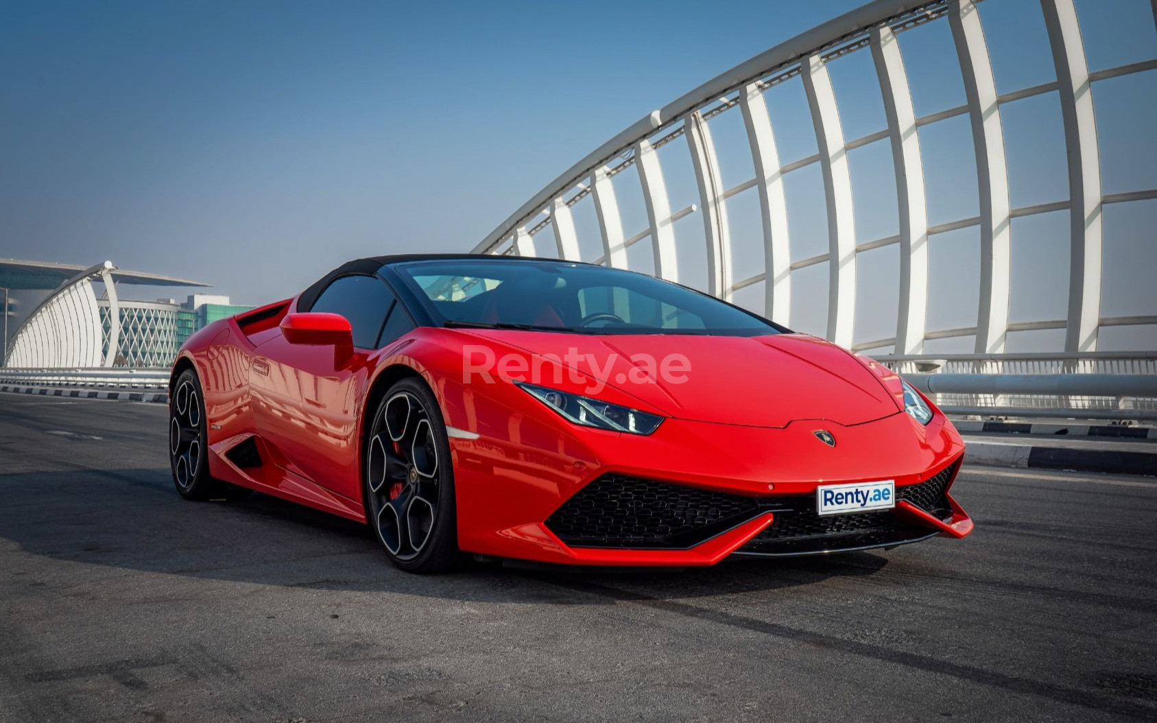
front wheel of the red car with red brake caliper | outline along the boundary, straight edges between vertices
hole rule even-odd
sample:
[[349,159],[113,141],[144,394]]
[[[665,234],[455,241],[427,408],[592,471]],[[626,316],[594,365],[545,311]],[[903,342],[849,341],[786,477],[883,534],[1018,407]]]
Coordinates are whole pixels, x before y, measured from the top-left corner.
[[374,537],[407,573],[458,567],[454,465],[442,411],[418,378],[390,388],[366,437],[362,494]]

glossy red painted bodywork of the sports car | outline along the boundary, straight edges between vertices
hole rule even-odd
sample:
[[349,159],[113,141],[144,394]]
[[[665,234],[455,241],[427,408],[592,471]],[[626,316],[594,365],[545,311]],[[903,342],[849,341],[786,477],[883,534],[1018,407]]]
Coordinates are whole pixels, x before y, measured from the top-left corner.
[[[375,412],[367,408],[371,389],[383,374],[420,375],[445,423],[477,435],[450,438],[458,545],[466,552],[584,565],[713,565],[760,534],[775,514],[685,549],[572,547],[546,519],[611,472],[775,499],[837,482],[894,480],[899,490],[964,453],[935,407],[927,426],[902,411],[893,372],[803,334],[591,337],[421,326],[382,349],[342,349],[290,344],[283,325],[293,323],[286,320],[293,308],[295,300],[287,300],[216,322],[179,353],[175,372],[191,363],[204,389],[211,474],[364,522],[361,460]],[[526,369],[537,364],[544,383],[562,391],[589,394],[597,385],[599,399],[668,419],[648,436],[573,425],[501,372],[465,381],[464,360],[479,348],[522,359]],[[568,366],[572,348],[578,357]],[[654,376],[626,383],[632,372],[646,376],[629,361],[641,353],[681,354],[693,374],[681,384]],[[837,444],[820,442],[819,429]],[[227,452],[251,437],[270,463],[242,469]],[[905,501],[894,514],[929,536],[964,537],[972,521],[949,500],[946,521]]]

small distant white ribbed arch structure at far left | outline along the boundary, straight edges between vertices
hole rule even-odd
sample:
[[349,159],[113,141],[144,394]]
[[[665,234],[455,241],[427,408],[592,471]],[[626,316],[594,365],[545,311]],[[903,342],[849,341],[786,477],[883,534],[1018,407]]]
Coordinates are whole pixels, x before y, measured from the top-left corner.
[[[119,303],[111,261],[97,264],[65,281],[45,298],[13,335],[5,367],[52,369],[112,367],[120,334]],[[104,283],[109,316],[105,342],[101,305],[93,281]]]

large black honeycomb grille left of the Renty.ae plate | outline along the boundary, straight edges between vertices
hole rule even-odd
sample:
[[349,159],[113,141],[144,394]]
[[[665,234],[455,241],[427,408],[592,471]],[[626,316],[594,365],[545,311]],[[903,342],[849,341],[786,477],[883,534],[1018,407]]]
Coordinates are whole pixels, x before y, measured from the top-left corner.
[[693,547],[759,511],[754,497],[604,474],[546,521],[573,547]]

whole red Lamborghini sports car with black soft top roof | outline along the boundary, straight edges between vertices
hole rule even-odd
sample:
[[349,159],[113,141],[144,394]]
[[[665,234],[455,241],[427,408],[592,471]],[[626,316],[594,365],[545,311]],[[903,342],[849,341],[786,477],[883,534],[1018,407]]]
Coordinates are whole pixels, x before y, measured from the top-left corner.
[[180,349],[187,499],[367,522],[398,567],[467,553],[713,565],[960,538],[964,443],[885,367],[653,276],[547,259],[351,261]]

